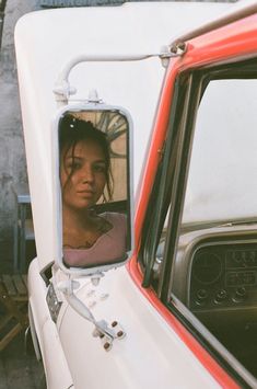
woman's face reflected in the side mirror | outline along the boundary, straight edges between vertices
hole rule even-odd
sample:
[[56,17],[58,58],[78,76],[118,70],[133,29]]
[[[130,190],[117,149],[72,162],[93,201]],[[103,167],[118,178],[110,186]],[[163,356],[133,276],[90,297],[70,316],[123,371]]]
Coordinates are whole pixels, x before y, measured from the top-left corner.
[[107,165],[103,149],[94,140],[81,140],[61,151],[60,179],[65,207],[90,208],[106,184]]

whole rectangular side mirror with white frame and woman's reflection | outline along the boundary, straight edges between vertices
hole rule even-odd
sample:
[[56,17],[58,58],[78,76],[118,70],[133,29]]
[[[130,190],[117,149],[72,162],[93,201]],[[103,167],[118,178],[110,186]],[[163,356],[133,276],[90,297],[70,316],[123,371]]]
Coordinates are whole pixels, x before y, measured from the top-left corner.
[[58,266],[80,275],[117,267],[133,244],[130,115],[68,105],[54,126]]

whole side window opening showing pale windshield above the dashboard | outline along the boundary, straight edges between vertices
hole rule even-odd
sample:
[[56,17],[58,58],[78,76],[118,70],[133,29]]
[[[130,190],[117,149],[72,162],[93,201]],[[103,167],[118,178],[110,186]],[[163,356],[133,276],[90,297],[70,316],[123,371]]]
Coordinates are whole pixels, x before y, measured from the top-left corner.
[[257,81],[212,80],[196,117],[172,279],[174,296],[254,376],[256,148]]

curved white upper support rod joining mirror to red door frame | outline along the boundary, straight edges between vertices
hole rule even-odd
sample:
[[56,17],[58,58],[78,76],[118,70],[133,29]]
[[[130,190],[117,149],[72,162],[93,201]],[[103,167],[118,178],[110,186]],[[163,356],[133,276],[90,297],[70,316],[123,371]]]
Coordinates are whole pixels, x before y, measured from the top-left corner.
[[[180,55],[180,54],[179,54]],[[127,61],[140,61],[152,57],[159,57],[162,60],[164,67],[167,66],[171,57],[177,57],[178,54],[172,53],[167,46],[163,46],[161,53],[157,54],[129,54],[129,55],[79,55],[63,67],[61,70],[54,93],[58,105],[66,105],[69,96],[75,94],[75,88],[69,83],[69,75],[73,67],[81,62],[127,62]]]

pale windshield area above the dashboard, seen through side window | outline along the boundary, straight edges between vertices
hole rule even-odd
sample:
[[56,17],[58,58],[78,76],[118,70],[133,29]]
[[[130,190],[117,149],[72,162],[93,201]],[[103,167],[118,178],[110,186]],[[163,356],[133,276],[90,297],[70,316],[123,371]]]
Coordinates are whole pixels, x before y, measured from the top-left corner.
[[257,214],[257,81],[214,80],[196,123],[184,222]]

